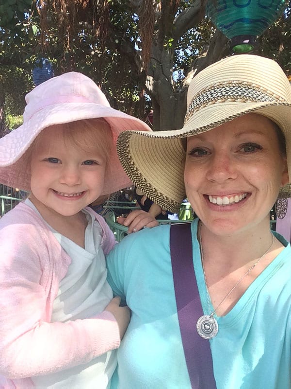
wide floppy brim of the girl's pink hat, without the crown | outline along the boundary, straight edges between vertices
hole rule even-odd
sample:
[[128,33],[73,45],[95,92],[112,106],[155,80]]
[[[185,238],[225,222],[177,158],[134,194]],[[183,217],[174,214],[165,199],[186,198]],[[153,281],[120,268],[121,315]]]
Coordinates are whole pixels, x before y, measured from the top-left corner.
[[[62,103],[46,106],[31,119],[0,140],[0,182],[14,188],[30,191],[29,168],[23,171],[24,154],[45,128],[83,119],[104,118],[113,133],[113,151],[106,171],[102,195],[107,195],[132,184],[125,174],[116,153],[116,140],[125,130],[151,131],[148,125],[110,106],[96,103]],[[19,173],[20,172],[20,173]]]

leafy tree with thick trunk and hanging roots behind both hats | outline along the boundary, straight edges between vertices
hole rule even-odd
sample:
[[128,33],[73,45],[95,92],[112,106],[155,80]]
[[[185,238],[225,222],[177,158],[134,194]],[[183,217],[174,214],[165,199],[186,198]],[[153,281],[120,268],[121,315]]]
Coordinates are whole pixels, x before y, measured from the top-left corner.
[[[115,108],[145,119],[151,105],[156,130],[183,125],[191,79],[229,54],[226,37],[205,18],[198,0],[28,3],[5,2],[13,12],[6,24],[0,22],[4,81],[5,66],[14,66],[11,71],[22,69],[27,74],[23,90],[31,88],[33,61],[42,55],[53,62],[56,75],[81,71],[94,79]],[[0,16],[2,11],[0,7]],[[290,18],[281,18],[260,38],[258,50],[277,59],[286,71],[290,71],[290,31]]]

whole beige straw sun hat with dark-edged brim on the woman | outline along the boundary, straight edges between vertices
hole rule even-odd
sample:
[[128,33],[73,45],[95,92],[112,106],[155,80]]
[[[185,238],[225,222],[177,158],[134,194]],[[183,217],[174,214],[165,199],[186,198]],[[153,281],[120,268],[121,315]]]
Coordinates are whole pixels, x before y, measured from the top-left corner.
[[177,212],[185,197],[181,138],[209,131],[246,113],[256,112],[279,125],[286,138],[291,173],[291,86],[275,61],[250,54],[222,59],[194,77],[187,103],[183,128],[126,131],[117,141],[126,173],[162,208]]

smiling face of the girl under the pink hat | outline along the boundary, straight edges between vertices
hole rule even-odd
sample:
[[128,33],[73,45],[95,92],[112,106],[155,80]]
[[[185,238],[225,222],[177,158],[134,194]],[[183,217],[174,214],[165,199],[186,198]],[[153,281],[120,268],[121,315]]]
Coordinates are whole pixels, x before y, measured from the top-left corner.
[[32,149],[32,201],[40,212],[75,215],[102,194],[106,158],[94,144],[84,149],[64,139],[60,126],[43,131]]

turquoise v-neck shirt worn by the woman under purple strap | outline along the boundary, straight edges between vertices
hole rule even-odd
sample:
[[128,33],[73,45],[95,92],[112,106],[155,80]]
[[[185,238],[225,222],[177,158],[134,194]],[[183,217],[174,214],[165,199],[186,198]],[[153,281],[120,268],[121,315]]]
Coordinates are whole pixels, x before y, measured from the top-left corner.
[[[194,269],[202,307],[209,314],[197,223],[195,219],[191,226]],[[178,325],[169,231],[169,225],[162,225],[131,234],[108,255],[108,281],[132,312],[111,389],[191,389]],[[291,388],[291,248],[276,237],[286,248],[232,310],[217,318],[219,332],[210,340],[217,389]]]

